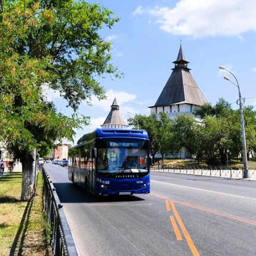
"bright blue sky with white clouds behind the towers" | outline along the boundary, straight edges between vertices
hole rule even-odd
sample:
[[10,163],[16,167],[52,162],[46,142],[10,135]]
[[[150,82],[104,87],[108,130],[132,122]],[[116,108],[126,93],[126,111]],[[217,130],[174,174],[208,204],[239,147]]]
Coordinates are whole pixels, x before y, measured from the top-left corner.
[[[89,2],[98,2],[121,17],[120,22],[111,30],[102,30],[101,35],[113,42],[113,63],[125,76],[114,81],[102,80],[108,100],[98,102],[93,98],[93,106],[81,104],[79,112],[90,116],[92,124],[77,131],[75,142],[103,123],[114,96],[125,119],[127,111],[149,114],[147,106],[155,104],[171,74],[180,38],[190,72],[208,102],[215,104],[224,97],[233,103],[238,98],[237,88],[223,80],[228,74],[219,70],[220,65],[235,73],[242,97],[256,97],[255,0]],[[72,113],[58,93],[48,97],[64,114]],[[256,106],[256,98],[246,99],[246,103]]]

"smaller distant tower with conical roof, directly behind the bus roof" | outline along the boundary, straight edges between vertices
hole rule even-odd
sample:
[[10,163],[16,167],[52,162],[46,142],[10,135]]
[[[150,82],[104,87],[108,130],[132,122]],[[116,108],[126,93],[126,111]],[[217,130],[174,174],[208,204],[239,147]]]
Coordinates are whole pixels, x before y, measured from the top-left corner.
[[124,121],[124,119],[119,111],[119,105],[117,104],[116,98],[114,99],[114,101],[110,107],[111,107],[111,110],[110,110],[106,120],[101,125],[101,128],[127,129],[128,125]]

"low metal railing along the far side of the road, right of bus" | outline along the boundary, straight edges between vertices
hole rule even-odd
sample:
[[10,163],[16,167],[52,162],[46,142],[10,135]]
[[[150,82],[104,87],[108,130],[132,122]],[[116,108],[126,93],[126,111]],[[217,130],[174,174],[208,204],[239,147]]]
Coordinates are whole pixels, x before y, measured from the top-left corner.
[[242,168],[227,168],[226,166],[202,166],[202,165],[184,165],[184,166],[175,166],[175,165],[162,165],[156,164],[150,167],[150,170],[157,170],[163,172],[172,172],[172,173],[183,173],[183,174],[194,174],[202,176],[214,176],[222,178],[231,178],[231,179],[244,179],[249,177],[250,179],[256,180],[256,170],[244,170]]

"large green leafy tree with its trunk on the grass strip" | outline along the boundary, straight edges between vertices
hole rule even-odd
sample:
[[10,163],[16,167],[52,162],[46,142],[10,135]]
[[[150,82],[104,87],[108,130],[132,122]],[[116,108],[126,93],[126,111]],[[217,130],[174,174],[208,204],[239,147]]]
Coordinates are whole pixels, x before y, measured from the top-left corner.
[[[0,140],[22,162],[21,200],[33,188],[33,150],[40,155],[56,140],[73,139],[89,118],[67,117],[44,97],[58,90],[77,111],[92,95],[105,97],[98,82],[105,74],[122,76],[111,64],[111,43],[99,34],[119,19],[98,4],[74,0],[1,1]],[[2,9],[2,11],[1,11]]]

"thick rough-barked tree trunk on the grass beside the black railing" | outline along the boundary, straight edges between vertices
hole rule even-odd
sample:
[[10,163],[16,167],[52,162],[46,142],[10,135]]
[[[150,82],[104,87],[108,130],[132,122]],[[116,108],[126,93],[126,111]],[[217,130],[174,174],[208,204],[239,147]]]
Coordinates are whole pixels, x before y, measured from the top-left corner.
[[35,170],[33,168],[34,154],[26,155],[22,161],[22,184],[21,184],[21,201],[29,201],[33,196],[33,187],[35,182]]

